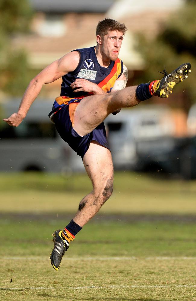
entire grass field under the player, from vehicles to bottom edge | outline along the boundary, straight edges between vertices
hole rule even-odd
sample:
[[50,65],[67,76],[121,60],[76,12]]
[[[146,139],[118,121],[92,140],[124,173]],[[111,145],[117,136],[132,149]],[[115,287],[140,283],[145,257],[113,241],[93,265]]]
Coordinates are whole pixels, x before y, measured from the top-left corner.
[[0,180],[0,300],[196,300],[195,181],[116,173],[114,195],[55,271],[51,234],[91,189],[88,178]]

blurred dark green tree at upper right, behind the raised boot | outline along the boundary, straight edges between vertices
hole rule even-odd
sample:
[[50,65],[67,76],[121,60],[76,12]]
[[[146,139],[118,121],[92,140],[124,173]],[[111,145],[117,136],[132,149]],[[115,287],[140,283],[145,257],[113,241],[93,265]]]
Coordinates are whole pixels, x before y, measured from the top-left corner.
[[[196,65],[196,1],[188,1],[178,12],[172,13],[169,19],[162,24],[162,32],[153,40],[139,36],[138,50],[146,62],[144,74],[136,80],[148,82],[159,79],[160,73],[166,67],[169,73],[179,65],[190,62],[192,73]],[[196,101],[194,74],[188,76],[186,95],[191,102]],[[182,89],[177,85],[176,90]]]

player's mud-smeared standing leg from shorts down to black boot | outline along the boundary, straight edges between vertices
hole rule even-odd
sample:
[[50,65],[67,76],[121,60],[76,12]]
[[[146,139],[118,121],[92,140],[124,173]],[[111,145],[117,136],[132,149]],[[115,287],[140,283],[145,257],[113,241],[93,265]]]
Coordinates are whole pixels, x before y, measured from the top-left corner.
[[73,220],[64,228],[53,233],[54,248],[50,259],[55,270],[61,264],[62,256],[71,240],[82,227],[99,211],[113,190],[113,163],[110,151],[98,142],[92,141],[83,163],[92,182],[93,190],[80,202]]

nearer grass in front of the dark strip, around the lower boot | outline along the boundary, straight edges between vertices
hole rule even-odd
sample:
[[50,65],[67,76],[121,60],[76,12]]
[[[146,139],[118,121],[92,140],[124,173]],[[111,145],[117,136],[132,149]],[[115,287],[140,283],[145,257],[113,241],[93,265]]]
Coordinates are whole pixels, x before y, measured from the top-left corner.
[[196,300],[194,224],[90,222],[56,272],[50,238],[62,224],[1,222],[2,300]]

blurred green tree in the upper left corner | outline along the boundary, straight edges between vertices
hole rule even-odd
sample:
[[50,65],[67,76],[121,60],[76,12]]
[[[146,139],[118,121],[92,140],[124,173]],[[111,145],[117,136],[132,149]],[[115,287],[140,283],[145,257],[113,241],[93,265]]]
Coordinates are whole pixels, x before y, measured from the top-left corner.
[[9,95],[23,94],[29,81],[27,54],[11,49],[11,37],[28,31],[31,16],[28,0],[0,0],[0,88]]

